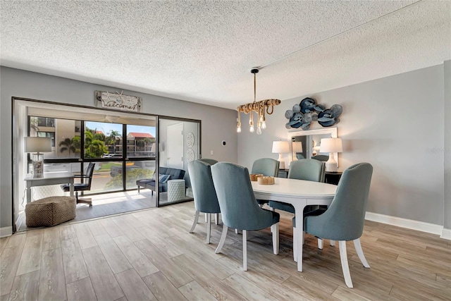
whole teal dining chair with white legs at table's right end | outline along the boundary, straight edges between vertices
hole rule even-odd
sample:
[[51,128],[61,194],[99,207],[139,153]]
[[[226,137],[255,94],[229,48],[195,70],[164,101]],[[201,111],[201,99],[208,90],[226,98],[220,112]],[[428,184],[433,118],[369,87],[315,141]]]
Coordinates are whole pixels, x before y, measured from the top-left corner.
[[[312,212],[304,218],[306,233],[319,239],[338,240],[343,276],[349,288],[352,288],[352,280],[346,253],[348,240],[354,242],[355,250],[364,267],[370,267],[364,256],[360,237],[364,231],[372,174],[373,166],[369,163],[350,166],[343,171],[337,192],[328,209],[318,212],[319,215]],[[295,219],[293,219],[293,225],[296,225]]]

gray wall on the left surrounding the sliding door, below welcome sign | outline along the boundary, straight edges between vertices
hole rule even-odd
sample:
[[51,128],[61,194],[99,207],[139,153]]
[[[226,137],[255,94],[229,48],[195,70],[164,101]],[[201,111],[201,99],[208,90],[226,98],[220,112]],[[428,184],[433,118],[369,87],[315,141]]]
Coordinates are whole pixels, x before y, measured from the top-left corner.
[[[94,106],[95,90],[120,92],[121,87],[94,85],[6,67],[0,67],[0,79],[0,228],[4,228],[12,225],[11,97]],[[123,90],[123,93],[141,96],[144,113],[201,120],[202,150],[206,153],[205,156],[209,156],[210,150],[213,150],[214,156],[209,157],[221,161],[237,161],[235,111],[128,90]],[[226,147],[221,146],[222,140],[228,141]]]

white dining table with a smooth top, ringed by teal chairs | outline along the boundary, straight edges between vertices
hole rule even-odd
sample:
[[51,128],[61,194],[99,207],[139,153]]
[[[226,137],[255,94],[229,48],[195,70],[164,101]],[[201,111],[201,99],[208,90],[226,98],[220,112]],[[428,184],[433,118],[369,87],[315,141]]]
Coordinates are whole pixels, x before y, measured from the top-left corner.
[[[307,205],[329,205],[335,192],[336,185],[312,182],[308,180],[296,180],[288,178],[275,178],[272,185],[261,185],[252,181],[252,189],[257,199],[278,201],[292,204],[295,207],[296,216],[303,216],[304,207]],[[304,223],[302,218],[296,222],[297,235],[297,271],[302,271],[302,233]]]

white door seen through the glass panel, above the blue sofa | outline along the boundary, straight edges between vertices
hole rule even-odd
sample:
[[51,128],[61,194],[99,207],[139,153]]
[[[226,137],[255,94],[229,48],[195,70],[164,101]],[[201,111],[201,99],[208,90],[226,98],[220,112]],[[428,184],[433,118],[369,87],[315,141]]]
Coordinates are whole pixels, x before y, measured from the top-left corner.
[[183,169],[183,123],[168,125],[166,162],[168,167]]

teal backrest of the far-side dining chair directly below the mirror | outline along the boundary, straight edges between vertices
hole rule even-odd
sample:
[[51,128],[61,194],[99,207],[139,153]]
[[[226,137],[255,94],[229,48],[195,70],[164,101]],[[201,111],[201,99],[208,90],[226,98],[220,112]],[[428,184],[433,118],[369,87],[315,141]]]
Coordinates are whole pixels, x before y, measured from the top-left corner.
[[290,164],[290,171],[288,171],[288,178],[324,182],[324,168],[324,162],[314,159],[292,161]]

